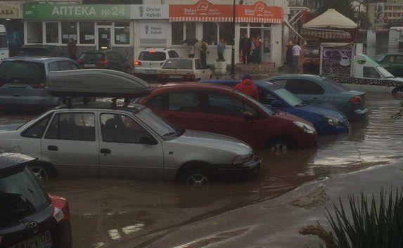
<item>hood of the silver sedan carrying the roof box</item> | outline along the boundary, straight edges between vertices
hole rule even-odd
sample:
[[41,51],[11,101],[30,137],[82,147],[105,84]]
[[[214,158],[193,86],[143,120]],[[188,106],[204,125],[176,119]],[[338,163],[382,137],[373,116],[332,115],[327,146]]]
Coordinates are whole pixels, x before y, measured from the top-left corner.
[[219,150],[233,152],[237,155],[247,155],[252,152],[252,148],[250,148],[249,145],[238,140],[237,138],[203,131],[186,130],[183,135],[169,142],[216,148]]

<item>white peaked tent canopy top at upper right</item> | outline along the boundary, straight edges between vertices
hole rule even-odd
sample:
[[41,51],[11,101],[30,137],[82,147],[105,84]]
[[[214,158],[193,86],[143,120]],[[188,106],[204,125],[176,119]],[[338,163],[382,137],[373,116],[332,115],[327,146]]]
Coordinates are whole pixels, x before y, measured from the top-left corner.
[[338,13],[334,8],[329,8],[325,13],[305,23],[302,27],[354,29],[357,28],[357,23]]

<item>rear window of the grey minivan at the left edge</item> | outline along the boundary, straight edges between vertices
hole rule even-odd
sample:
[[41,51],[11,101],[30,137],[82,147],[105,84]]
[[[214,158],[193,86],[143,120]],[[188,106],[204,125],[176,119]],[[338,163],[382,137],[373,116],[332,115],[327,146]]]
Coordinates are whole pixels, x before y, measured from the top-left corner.
[[46,79],[45,68],[41,63],[27,61],[4,61],[0,64],[0,80],[43,81]]

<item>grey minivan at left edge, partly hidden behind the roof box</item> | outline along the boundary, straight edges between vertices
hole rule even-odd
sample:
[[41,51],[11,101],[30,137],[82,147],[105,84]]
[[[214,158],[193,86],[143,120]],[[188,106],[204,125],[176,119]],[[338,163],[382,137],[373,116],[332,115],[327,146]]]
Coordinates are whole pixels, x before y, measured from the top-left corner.
[[48,109],[58,105],[59,98],[45,89],[51,71],[78,70],[70,58],[6,58],[0,64],[0,109]]

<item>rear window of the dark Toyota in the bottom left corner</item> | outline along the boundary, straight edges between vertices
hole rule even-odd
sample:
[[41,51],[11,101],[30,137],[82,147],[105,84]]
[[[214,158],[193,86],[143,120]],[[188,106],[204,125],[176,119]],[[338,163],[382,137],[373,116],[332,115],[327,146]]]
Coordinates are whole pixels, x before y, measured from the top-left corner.
[[49,206],[49,197],[25,167],[0,173],[0,227]]

